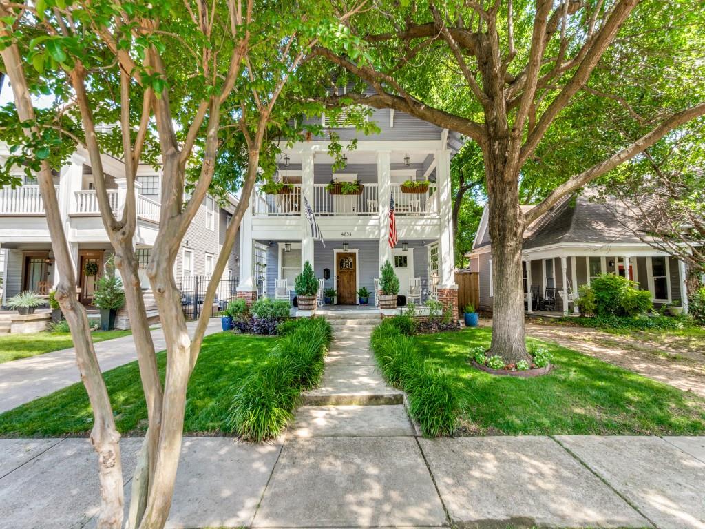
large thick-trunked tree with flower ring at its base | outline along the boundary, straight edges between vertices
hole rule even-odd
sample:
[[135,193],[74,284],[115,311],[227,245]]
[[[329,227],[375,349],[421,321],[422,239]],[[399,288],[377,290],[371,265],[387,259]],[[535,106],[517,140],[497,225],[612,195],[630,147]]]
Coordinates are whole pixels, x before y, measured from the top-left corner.
[[[331,95],[328,104],[403,111],[462,133],[482,150],[494,263],[491,354],[510,363],[528,358],[521,280],[525,227],[560,197],[705,113],[702,97],[684,96],[701,94],[702,72],[694,72],[692,54],[679,55],[678,45],[702,28],[702,17],[692,1],[379,0],[348,20],[344,45],[314,49],[314,56],[372,89]],[[319,67],[314,60],[307,66]],[[638,71],[659,82],[634,83]],[[670,90],[658,90],[666,83],[673,83]],[[644,102],[644,121],[627,114],[628,127],[582,144],[586,151],[591,143],[601,148],[544,186],[536,194],[543,200],[523,213],[522,176],[556,123],[587,95]],[[590,121],[574,126],[587,131]],[[563,130],[570,126],[564,123]]]

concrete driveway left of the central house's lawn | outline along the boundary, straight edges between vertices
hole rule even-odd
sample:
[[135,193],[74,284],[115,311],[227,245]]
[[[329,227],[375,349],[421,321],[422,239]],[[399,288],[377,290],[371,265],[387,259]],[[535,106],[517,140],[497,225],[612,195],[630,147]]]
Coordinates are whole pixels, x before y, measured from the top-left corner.
[[[193,331],[195,324],[196,322],[190,322],[188,329]],[[220,320],[213,319],[208,324],[206,334],[221,330]],[[161,328],[152,331],[152,339],[157,351],[166,348]],[[102,371],[137,360],[132,336],[102,341],[96,343],[94,347]],[[0,413],[79,381],[73,348],[2,363],[0,364]]]

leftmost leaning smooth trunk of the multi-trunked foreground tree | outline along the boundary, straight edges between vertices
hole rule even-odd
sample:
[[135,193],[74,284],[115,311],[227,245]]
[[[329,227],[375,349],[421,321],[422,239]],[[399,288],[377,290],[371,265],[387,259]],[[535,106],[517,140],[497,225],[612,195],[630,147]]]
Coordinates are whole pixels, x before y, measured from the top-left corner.
[[[2,16],[10,13],[1,7]],[[10,37],[8,30],[1,29],[0,35]],[[30,91],[27,87],[23,63],[17,44],[10,44],[0,51],[5,69],[10,78],[13,95],[20,121],[34,121]],[[25,128],[25,133],[37,133],[37,128]],[[76,354],[76,363],[81,380],[88,394],[93,411],[94,424],[90,442],[98,454],[101,506],[98,519],[99,529],[120,529],[123,521],[123,473],[120,456],[120,434],[115,427],[113,410],[108,391],[98,365],[93,348],[90,327],[85,308],[78,301],[73,260],[68,250],[66,233],[59,212],[53,176],[49,164],[44,161],[37,175],[39,191],[44,201],[47,226],[54,250],[56,269],[60,281],[56,288],[56,300],[71,329],[71,338]]]

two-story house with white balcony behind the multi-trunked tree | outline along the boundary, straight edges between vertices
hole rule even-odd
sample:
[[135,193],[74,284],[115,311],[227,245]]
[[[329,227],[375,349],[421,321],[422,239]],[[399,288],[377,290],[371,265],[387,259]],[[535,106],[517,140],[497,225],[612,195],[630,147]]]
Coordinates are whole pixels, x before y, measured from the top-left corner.
[[[0,157],[2,154],[0,152]],[[124,174],[123,162],[109,155],[104,155],[102,162],[111,206],[119,214],[125,203],[127,186],[124,178],[113,175]],[[142,164],[137,171],[135,183],[137,229],[134,243],[145,292],[145,305],[152,310],[154,298],[144,270],[159,231],[160,172],[153,166]],[[4,253],[3,304],[7,298],[22,291],[46,295],[59,281],[37,182],[25,176],[21,169],[18,169],[17,174],[23,179],[22,186],[16,189],[0,188],[0,248]],[[105,262],[113,249],[99,215],[87,153],[80,149],[75,152],[68,164],[55,174],[54,184],[75,264],[80,300],[90,306],[97,279],[103,273]],[[229,197],[226,205],[221,205],[219,200],[209,196],[198,210],[181,242],[174,270],[177,283],[187,280],[186,290],[192,288],[188,279],[195,276],[209,279],[236,205],[235,197]],[[238,266],[238,253],[235,249],[223,277],[237,281]]]

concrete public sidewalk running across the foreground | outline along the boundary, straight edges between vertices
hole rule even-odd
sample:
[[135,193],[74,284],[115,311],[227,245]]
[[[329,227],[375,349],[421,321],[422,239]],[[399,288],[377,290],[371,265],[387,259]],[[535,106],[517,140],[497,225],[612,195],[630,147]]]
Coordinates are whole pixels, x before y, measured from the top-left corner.
[[[705,437],[290,437],[184,439],[168,527],[705,527]],[[98,507],[87,439],[0,439],[1,529],[93,528]]]

